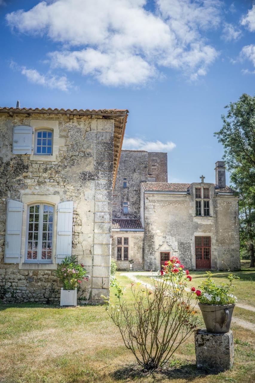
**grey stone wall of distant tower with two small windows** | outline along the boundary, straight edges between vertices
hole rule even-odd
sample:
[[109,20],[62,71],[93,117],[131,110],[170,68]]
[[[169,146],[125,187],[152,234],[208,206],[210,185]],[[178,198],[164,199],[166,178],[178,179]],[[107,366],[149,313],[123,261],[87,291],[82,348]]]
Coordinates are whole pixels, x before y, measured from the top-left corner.
[[[123,188],[123,177],[127,188]],[[148,152],[121,151],[113,190],[113,218],[140,218],[140,183],[148,178]],[[129,213],[123,214],[123,201],[129,202]]]

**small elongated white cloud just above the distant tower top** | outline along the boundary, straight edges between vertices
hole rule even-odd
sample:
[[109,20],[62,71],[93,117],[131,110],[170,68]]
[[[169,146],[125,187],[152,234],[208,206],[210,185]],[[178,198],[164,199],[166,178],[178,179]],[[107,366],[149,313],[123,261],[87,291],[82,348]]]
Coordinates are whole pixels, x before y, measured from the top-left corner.
[[130,150],[146,150],[149,152],[170,152],[176,147],[172,141],[167,141],[165,144],[159,140],[145,141],[141,138],[128,138],[123,139],[123,149]]

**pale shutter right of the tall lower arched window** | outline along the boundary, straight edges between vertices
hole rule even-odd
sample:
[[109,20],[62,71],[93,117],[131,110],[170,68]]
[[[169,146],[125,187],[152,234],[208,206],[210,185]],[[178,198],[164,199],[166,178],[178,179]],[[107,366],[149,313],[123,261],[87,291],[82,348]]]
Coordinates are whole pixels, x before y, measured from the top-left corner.
[[72,254],[73,207],[73,201],[61,202],[57,206],[56,263]]

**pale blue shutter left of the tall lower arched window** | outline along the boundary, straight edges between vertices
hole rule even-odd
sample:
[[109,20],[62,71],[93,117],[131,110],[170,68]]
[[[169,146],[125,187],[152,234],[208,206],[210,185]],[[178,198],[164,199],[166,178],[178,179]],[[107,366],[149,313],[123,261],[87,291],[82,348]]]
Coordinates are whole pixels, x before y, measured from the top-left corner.
[[8,200],[5,232],[5,263],[19,263],[23,203]]

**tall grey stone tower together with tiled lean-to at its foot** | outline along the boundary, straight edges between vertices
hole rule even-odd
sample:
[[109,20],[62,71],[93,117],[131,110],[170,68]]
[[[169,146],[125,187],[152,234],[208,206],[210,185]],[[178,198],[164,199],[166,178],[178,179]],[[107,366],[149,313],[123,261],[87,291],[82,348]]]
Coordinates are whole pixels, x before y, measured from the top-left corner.
[[144,269],[141,182],[167,182],[167,153],[123,150],[113,190],[112,253],[119,269]]

